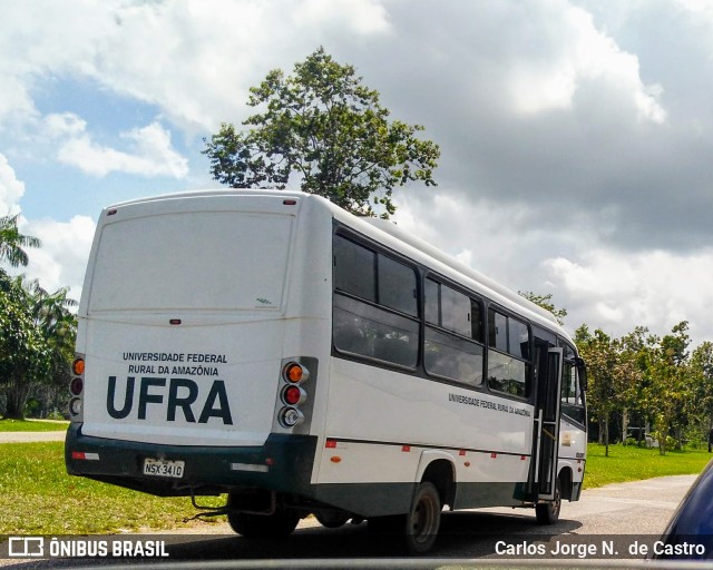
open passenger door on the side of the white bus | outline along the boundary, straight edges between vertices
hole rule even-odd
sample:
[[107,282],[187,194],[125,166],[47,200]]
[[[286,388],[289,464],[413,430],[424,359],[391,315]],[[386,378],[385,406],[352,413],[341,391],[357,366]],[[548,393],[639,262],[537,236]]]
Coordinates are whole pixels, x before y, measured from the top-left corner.
[[557,481],[563,350],[543,345],[539,348],[533,489],[538,500],[551,501]]

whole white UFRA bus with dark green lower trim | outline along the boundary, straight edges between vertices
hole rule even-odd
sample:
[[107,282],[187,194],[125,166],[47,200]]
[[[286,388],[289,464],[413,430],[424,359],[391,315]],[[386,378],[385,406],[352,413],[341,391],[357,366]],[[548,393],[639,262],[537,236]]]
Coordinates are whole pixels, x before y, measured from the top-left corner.
[[70,474],[226,494],[245,537],[367,520],[412,553],[445,507],[548,523],[579,498],[585,368],[553,316],[319,196],[105,209],[78,318]]

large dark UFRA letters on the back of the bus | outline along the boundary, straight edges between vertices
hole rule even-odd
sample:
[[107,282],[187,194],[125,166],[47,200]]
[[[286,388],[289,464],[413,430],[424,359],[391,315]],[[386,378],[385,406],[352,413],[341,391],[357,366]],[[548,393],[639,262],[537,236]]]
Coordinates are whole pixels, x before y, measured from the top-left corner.
[[[175,422],[176,414],[180,411],[186,422],[195,423],[196,416],[193,405],[198,400],[198,384],[188,379],[170,379],[168,382],[168,392],[166,393],[167,381],[168,379],[144,376],[139,381],[137,399],[135,396],[136,377],[128,376],[124,390],[124,403],[120,404],[120,407],[117,407],[117,381],[116,376],[109,376],[107,412],[115,420],[124,420],[131,413],[135,401],[138,400],[137,417],[139,420],[146,420],[147,407],[149,405],[164,405],[164,396],[167,396],[165,404],[167,422]],[[224,424],[233,425],[233,416],[231,415],[231,406],[227,401],[227,393],[225,392],[225,383],[222,380],[213,381],[208,395],[203,403],[201,415],[198,415],[198,423],[208,423],[211,417],[219,417]]]

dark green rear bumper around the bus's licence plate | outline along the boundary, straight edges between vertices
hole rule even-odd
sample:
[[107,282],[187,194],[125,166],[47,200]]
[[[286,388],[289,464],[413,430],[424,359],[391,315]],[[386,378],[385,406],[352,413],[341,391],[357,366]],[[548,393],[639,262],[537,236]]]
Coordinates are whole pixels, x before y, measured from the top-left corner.
[[[257,488],[312,494],[316,450],[312,435],[271,434],[260,446],[159,445],[82,435],[71,424],[65,441],[67,472],[162,497],[213,494]],[[145,475],[146,458],[185,462],[183,476]]]

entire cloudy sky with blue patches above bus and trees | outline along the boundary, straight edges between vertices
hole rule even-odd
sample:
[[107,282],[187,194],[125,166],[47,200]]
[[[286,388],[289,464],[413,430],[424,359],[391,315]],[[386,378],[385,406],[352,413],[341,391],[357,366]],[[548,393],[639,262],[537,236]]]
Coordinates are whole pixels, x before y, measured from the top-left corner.
[[713,341],[711,0],[0,0],[0,215],[79,298],[100,209],[215,188],[202,150],[320,46],[440,146],[394,220],[613,336]]

